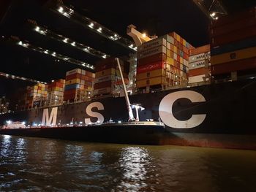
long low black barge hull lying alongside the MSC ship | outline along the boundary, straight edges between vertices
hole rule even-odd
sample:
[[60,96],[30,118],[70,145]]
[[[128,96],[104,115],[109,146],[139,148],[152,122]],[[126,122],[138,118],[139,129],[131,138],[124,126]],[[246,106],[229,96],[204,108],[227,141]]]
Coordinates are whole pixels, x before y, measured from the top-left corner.
[[160,145],[163,126],[67,126],[45,128],[3,128],[0,134],[21,137],[43,137],[85,142],[108,142],[132,145]]

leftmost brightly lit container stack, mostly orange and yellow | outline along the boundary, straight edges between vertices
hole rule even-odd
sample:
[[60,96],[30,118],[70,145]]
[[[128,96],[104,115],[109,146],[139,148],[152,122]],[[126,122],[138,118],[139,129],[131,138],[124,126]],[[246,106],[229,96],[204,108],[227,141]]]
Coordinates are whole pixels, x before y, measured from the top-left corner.
[[48,86],[42,83],[37,83],[34,86],[28,86],[26,91],[26,108],[42,107],[47,99]]

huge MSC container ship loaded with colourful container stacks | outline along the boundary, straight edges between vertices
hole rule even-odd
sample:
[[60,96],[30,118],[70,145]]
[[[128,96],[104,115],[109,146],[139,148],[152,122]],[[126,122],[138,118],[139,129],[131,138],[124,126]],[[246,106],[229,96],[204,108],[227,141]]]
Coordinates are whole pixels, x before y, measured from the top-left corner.
[[[136,67],[128,69],[125,60],[118,66],[114,58],[105,58],[96,64],[95,73],[74,69],[65,80],[28,87],[20,97],[21,110],[0,115],[1,123],[25,120],[29,128],[22,128],[22,136],[31,136],[28,130],[39,132],[44,126],[56,130],[60,139],[75,139],[81,133],[74,130],[86,126],[83,137],[91,142],[255,150],[255,28],[253,7],[213,20],[210,45],[193,47],[176,32],[144,38],[138,46]],[[128,30],[132,33],[135,28]],[[106,131],[92,126],[127,120],[119,69],[124,71],[123,80],[131,93],[133,114],[143,121],[160,120],[165,130],[123,126]],[[63,127],[73,130],[75,136],[67,132],[62,138]],[[2,128],[0,133],[11,131]]]

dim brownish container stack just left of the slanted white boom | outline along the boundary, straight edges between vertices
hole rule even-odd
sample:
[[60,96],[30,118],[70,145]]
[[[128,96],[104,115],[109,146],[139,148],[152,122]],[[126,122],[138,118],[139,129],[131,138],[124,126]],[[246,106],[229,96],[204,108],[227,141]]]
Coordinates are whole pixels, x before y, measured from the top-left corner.
[[[124,80],[127,82],[127,73],[124,72],[124,61],[119,59]],[[121,85],[121,75],[115,58],[106,58],[95,66],[94,96],[111,95]]]

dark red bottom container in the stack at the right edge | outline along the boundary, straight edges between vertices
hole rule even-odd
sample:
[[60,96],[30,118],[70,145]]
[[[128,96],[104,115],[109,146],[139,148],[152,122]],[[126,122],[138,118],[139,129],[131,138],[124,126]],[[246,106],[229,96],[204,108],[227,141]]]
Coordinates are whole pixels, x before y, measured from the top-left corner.
[[227,74],[248,69],[256,69],[256,57],[211,66],[211,74]]

